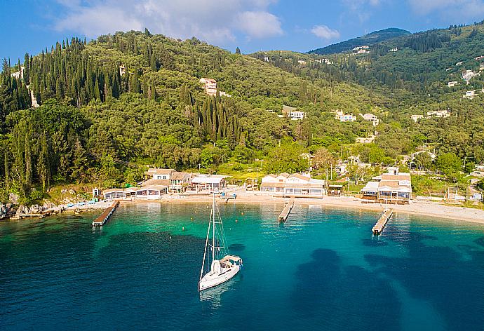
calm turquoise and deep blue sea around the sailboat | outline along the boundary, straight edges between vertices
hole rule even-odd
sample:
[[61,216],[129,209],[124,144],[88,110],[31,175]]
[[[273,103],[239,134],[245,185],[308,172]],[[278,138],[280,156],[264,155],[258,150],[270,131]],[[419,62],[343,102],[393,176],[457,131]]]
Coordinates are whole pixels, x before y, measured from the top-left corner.
[[0,330],[484,330],[483,226],[396,214],[377,238],[375,212],[220,211],[244,266],[202,295],[206,203],[0,223]]

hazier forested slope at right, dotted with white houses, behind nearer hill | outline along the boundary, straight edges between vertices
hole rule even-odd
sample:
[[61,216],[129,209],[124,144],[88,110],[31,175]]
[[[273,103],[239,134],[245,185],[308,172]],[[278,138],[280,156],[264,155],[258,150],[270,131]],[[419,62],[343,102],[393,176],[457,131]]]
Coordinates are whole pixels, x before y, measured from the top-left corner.
[[[405,35],[375,43],[359,54],[270,51],[253,56],[300,76],[354,82],[372,90],[383,89],[382,93],[398,93],[396,96],[407,101],[462,99],[467,90],[483,88],[483,75],[474,75],[468,85],[462,74],[482,71],[484,25],[480,22]],[[450,81],[457,81],[457,85],[449,89]]]

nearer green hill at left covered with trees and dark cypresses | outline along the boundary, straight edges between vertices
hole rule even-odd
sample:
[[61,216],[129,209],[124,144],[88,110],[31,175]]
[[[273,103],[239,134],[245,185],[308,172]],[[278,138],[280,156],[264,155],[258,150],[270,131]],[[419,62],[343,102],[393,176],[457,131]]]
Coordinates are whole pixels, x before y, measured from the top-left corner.
[[[209,97],[201,77],[231,97]],[[351,143],[369,126],[338,128],[330,110],[389,103],[354,84],[302,79],[147,30],[60,41],[23,64],[4,60],[0,79],[0,195],[25,201],[53,184],[133,184],[146,165],[215,171],[227,158],[264,158],[279,142],[289,143],[285,150],[297,142],[299,154],[322,141]],[[31,108],[30,94],[40,107]],[[307,119],[278,117],[283,104]]]

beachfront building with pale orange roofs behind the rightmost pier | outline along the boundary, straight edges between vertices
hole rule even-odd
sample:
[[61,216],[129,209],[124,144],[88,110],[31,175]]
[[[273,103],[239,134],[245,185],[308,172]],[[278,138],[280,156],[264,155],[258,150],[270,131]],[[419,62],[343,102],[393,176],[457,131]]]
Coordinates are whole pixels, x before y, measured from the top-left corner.
[[412,199],[412,179],[409,173],[400,173],[398,168],[390,167],[381,178],[368,182],[361,189],[361,199],[376,203],[410,203]]

